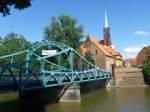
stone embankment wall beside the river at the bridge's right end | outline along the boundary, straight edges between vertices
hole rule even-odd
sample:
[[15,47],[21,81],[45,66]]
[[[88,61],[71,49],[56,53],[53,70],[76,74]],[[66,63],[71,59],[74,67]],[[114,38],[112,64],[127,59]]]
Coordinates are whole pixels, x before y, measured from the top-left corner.
[[115,68],[114,81],[116,87],[145,86],[143,71],[139,68]]

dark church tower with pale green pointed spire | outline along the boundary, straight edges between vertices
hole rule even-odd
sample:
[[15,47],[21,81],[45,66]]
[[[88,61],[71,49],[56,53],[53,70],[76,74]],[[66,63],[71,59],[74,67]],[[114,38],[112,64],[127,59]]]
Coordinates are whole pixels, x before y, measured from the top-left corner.
[[107,18],[106,11],[105,11],[105,25],[103,28],[103,35],[104,35],[104,45],[111,47],[112,42],[111,42],[111,35],[110,35],[110,27],[108,25],[108,18]]

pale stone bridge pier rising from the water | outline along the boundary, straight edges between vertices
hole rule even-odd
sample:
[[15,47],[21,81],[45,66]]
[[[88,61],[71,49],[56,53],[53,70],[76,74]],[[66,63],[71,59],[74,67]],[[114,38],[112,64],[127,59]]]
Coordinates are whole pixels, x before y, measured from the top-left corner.
[[80,86],[71,85],[67,87],[59,102],[80,102]]

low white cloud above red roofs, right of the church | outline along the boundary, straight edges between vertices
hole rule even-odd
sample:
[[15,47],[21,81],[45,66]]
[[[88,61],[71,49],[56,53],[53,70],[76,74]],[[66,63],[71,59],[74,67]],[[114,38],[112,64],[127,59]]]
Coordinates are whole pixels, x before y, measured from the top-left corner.
[[135,58],[138,53],[141,51],[143,47],[147,46],[147,44],[143,44],[141,46],[127,46],[123,50],[123,57],[126,58]]

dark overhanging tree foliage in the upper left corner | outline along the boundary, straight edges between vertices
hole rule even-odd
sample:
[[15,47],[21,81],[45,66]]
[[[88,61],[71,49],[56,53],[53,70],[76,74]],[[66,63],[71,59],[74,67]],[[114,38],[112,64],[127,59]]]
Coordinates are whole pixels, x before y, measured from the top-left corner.
[[32,0],[0,0],[0,13],[3,16],[10,14],[10,7],[14,6],[15,9],[25,9],[31,6]]

